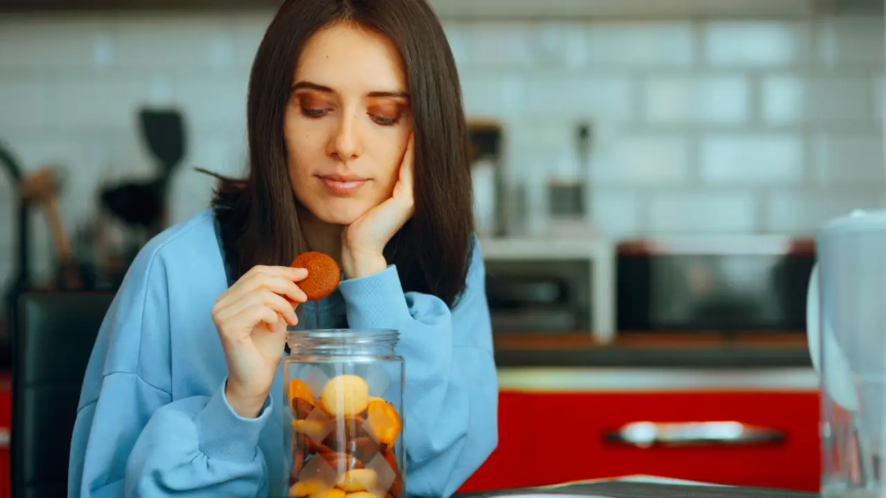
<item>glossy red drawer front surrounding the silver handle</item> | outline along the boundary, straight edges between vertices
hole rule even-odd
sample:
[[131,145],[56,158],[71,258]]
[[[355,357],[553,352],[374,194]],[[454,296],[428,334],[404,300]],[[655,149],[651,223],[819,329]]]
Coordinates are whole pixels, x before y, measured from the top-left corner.
[[[502,391],[499,446],[462,491],[649,474],[817,491],[819,396],[814,391],[540,393]],[[636,447],[606,434],[633,422],[734,421],[781,441]]]

